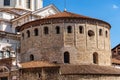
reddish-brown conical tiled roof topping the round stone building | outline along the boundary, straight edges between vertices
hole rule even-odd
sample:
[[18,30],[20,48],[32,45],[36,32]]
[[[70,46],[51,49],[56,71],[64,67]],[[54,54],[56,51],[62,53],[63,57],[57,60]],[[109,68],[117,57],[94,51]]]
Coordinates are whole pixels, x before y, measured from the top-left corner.
[[67,11],[63,11],[63,12],[59,12],[57,14],[53,14],[53,15],[50,15],[42,19],[38,19],[38,20],[23,24],[22,26],[18,27],[18,30],[22,31],[26,28],[29,28],[30,26],[36,26],[36,25],[41,25],[41,24],[43,25],[43,24],[51,24],[51,23],[77,23],[81,21],[83,23],[92,21],[94,24],[97,24],[99,22],[99,23],[107,25],[105,27],[107,27],[108,29],[111,28],[111,25],[105,21],[79,15],[79,14],[75,14],[75,13],[71,13],[71,12],[67,12]]

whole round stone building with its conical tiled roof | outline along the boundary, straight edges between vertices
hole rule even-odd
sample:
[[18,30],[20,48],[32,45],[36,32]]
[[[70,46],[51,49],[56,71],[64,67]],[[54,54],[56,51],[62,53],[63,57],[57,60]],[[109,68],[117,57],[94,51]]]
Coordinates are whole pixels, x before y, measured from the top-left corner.
[[21,62],[111,65],[110,24],[60,12],[21,27]]

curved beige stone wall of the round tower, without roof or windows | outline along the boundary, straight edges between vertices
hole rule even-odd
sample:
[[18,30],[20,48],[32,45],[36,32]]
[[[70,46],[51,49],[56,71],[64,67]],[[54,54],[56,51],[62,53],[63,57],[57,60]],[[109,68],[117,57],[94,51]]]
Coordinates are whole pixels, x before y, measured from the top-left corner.
[[[44,34],[44,27],[48,27],[49,34]],[[60,34],[56,34],[56,26],[60,27]],[[72,33],[67,33],[67,27],[72,26]],[[83,27],[83,33],[79,32]],[[106,25],[108,26],[108,25]],[[34,36],[34,29],[38,29],[38,36]],[[102,35],[99,35],[102,29]],[[26,32],[30,31],[30,38]],[[93,35],[89,36],[88,32]],[[106,36],[107,31],[107,36]],[[110,32],[104,25],[88,23],[59,23],[34,26],[25,29],[24,39],[21,39],[22,62],[30,61],[33,54],[35,60],[64,63],[64,52],[69,52],[71,64],[93,64],[93,53],[98,54],[99,65],[111,65]]]

